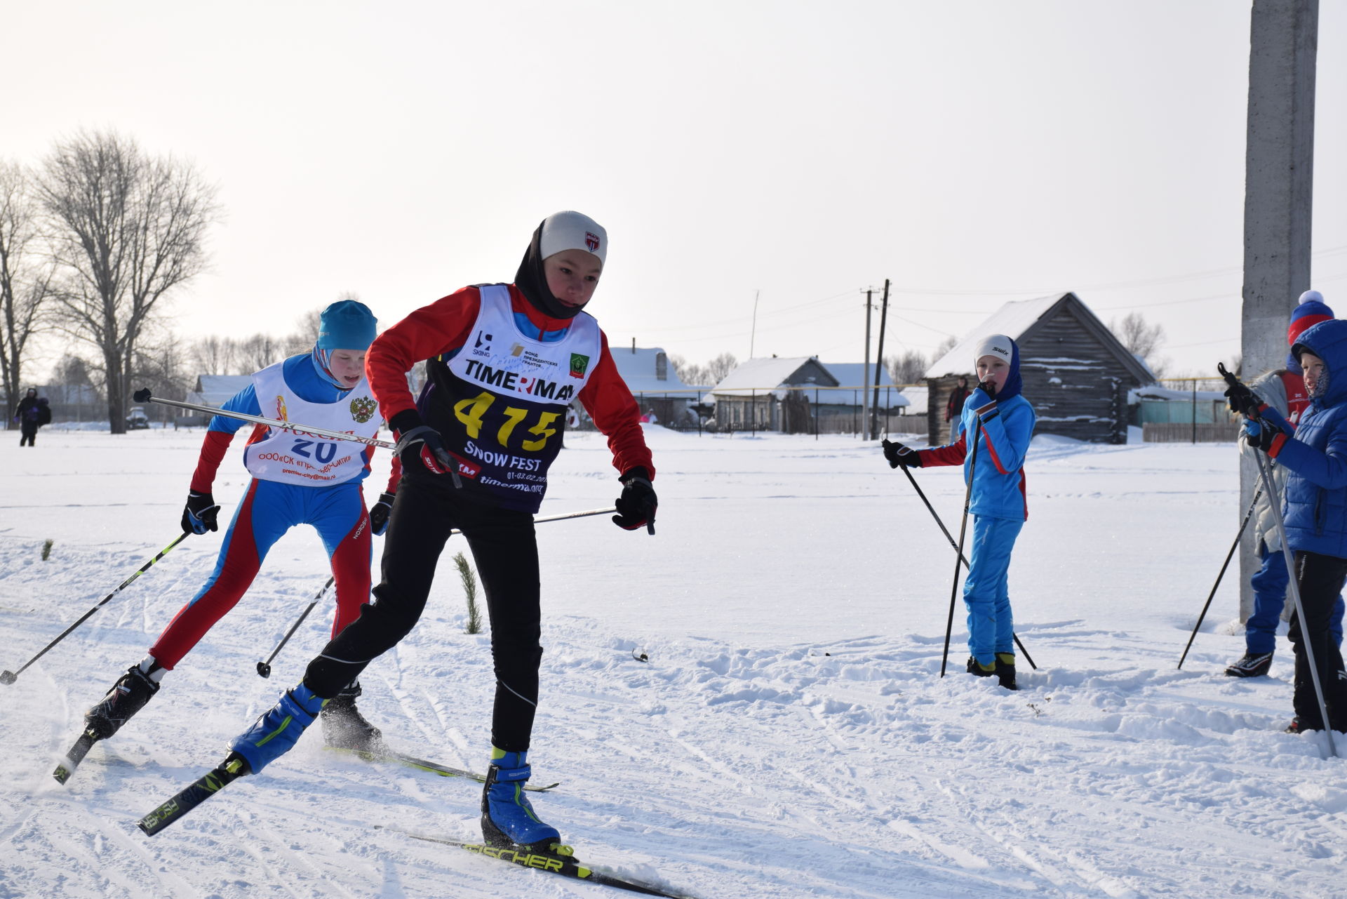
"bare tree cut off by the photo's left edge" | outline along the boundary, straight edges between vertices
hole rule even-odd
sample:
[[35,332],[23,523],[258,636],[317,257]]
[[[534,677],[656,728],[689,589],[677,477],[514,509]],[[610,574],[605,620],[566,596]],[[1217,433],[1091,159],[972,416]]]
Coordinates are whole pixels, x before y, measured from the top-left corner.
[[[38,204],[28,174],[0,162],[0,388],[12,406],[22,395],[28,340],[46,325],[51,267],[39,261]],[[5,426],[12,422],[5,415]]]

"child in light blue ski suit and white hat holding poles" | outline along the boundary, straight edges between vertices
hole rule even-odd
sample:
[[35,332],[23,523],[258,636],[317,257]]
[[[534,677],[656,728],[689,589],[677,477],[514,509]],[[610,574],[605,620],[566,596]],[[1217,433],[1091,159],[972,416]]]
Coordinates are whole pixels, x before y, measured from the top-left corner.
[[[1020,390],[1020,346],[1005,334],[983,340],[974,354],[978,388],[963,403],[958,439],[948,446],[913,450],[884,442],[890,468],[963,465],[967,483],[973,468],[968,511],[973,514],[973,551],[963,581],[968,607],[968,674],[997,675],[1014,690],[1014,616],[1006,582],[1010,551],[1029,516],[1024,458],[1033,437],[1034,414]],[[967,437],[975,437],[977,466]]]

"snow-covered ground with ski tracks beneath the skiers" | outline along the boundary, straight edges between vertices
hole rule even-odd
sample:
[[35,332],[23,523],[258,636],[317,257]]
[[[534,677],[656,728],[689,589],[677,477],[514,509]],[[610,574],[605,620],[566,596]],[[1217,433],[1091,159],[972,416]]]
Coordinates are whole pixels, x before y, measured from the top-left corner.
[[[9,437],[0,664],[13,670],[172,539],[201,434],[44,429],[35,450]],[[1220,674],[1243,648],[1233,578],[1175,667],[1238,526],[1231,446],[1036,441],[1012,597],[1039,670],[1021,659],[1024,689],[1008,693],[962,673],[962,608],[938,677],[954,554],[873,443],[648,437],[655,538],[605,518],[539,527],[532,760],[562,787],[536,805],[583,860],[703,899],[1347,892],[1347,768],[1281,732],[1289,650],[1270,678]],[[568,435],[554,470],[544,514],[617,495],[598,435]],[[237,447],[221,472],[232,514]],[[916,476],[956,530],[958,472]],[[255,671],[327,577],[308,530],[58,786],[84,709],[218,546],[189,538],[0,687],[0,898],[603,895],[376,829],[473,837],[478,788],[339,757],[315,735],[160,836],[135,828],[322,646],[330,616],[315,613],[269,681]],[[488,643],[463,633],[447,557],[440,571],[419,628],[366,671],[361,708],[395,747],[482,770]]]

